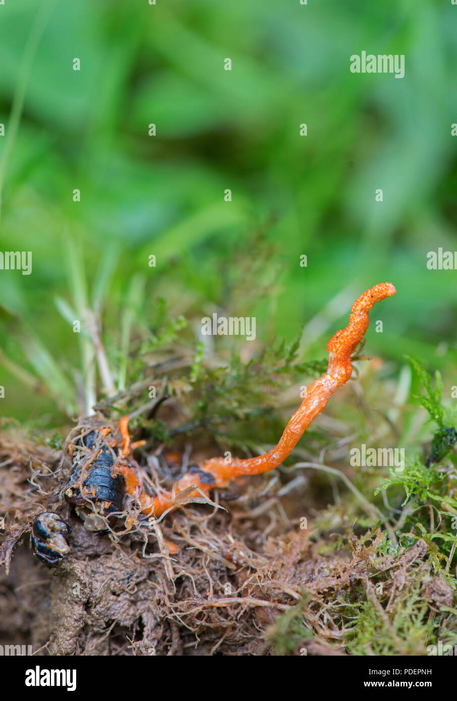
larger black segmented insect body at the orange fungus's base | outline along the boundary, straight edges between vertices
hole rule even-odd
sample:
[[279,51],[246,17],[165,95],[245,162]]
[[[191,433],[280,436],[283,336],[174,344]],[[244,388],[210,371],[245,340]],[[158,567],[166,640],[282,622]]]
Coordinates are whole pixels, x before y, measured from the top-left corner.
[[[83,446],[89,450],[95,450],[100,434],[90,431],[76,442],[77,446]],[[97,503],[97,511],[103,516],[108,516],[115,511],[121,511],[123,505],[123,475],[114,470],[117,448],[109,449],[106,446],[100,447],[97,457],[90,463],[86,470],[86,477],[82,484],[81,493],[81,470],[82,465],[76,464],[71,472],[65,498],[71,505],[76,507],[76,512],[83,517],[82,509],[88,506],[88,501]],[[113,454],[114,453],[114,454]],[[87,520],[87,519],[85,519]],[[89,526],[88,522],[88,526]],[[103,530],[102,524],[90,526],[90,530]]]

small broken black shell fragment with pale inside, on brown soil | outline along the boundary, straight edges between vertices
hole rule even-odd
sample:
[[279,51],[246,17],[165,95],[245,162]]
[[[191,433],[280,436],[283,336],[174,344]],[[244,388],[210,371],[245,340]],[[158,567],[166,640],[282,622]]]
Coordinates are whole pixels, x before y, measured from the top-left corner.
[[32,547],[41,562],[52,567],[69,551],[71,527],[53,511],[43,511],[32,524]]

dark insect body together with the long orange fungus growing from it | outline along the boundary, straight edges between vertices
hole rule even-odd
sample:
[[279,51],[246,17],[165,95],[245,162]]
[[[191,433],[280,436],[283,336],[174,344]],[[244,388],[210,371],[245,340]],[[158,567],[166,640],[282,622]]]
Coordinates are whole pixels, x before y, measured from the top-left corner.
[[185,505],[186,499],[207,495],[215,488],[226,488],[235,477],[259,475],[277,468],[292,452],[306,428],[325,409],[335,390],[350,378],[353,369],[351,355],[367,331],[371,308],[376,301],[392,297],[395,292],[395,287],[390,283],[381,283],[355,300],[348,325],[336,332],[327,343],[327,372],[308,387],[303,402],[287,423],[278,444],[268,453],[255,458],[235,458],[231,462],[225,458],[211,458],[203,465],[193,465],[172,491],[151,496],[144,489],[137,471],[128,462],[132,450],[143,442],[130,443],[128,417],[124,417],[119,423],[122,440],[117,439],[110,428],[101,426],[82,435],[80,430],[76,440],[67,442],[69,450],[76,451],[79,456],[65,489],[67,501],[85,519],[88,529],[102,531],[106,527],[102,517],[121,510],[124,494],[137,501],[142,514],[160,517]]

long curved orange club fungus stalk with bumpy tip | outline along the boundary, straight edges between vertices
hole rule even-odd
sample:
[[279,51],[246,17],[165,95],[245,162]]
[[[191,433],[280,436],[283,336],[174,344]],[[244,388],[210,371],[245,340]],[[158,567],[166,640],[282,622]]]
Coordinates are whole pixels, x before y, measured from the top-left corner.
[[[308,387],[303,402],[287,423],[278,444],[268,453],[255,458],[234,458],[230,463],[226,462],[225,458],[211,458],[203,463],[200,472],[188,472],[182,479],[179,479],[172,492],[164,492],[155,497],[146,494],[133,470],[122,468],[125,476],[125,489],[128,494],[137,498],[142,506],[142,512],[157,517],[168,509],[177,508],[179,506],[177,495],[192,485],[198,489],[186,494],[186,497],[201,496],[200,492],[208,494],[216,487],[225,488],[234,477],[240,475],[259,475],[261,472],[277,468],[292,452],[310,423],[320,414],[322,409],[325,409],[334,391],[343,386],[350,378],[353,370],[350,356],[367,331],[370,309],[373,308],[375,302],[392,297],[395,292],[395,287],[390,283],[380,283],[357,297],[351,308],[348,325],[345,329],[336,332],[327,343],[327,351],[329,352],[327,372]],[[125,430],[126,424],[122,427],[124,440]],[[128,449],[127,440],[125,440],[125,444]],[[212,483],[208,484],[208,482]]]

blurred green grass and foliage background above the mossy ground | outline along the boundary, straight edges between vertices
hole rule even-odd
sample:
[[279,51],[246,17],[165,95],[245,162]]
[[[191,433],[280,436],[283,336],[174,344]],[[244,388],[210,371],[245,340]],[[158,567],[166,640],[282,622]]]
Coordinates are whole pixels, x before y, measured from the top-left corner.
[[[18,368],[71,382],[61,312],[85,284],[115,369],[126,305],[152,328],[166,299],[189,343],[212,311],[255,316],[262,343],[305,325],[323,358],[386,280],[367,350],[455,368],[457,271],[425,262],[457,250],[456,27],[450,0],[6,0],[0,250],[33,269],[0,271],[2,414],[59,420]],[[351,74],[362,50],[404,54],[404,78]]]

